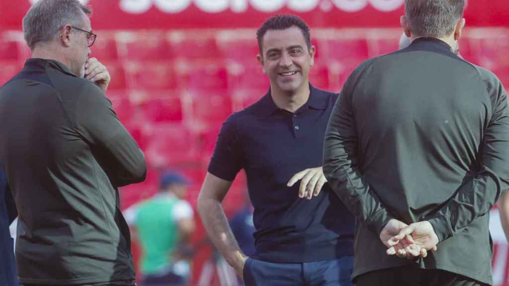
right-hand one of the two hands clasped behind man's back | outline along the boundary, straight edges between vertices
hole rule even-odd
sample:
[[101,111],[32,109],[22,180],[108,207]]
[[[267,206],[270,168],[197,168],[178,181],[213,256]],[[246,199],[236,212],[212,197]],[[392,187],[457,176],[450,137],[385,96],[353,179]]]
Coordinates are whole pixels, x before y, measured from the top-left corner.
[[429,250],[437,250],[438,237],[429,221],[419,221],[404,227],[398,235],[389,239],[388,244],[389,255],[401,254],[400,249],[403,246],[413,256],[426,257]]

